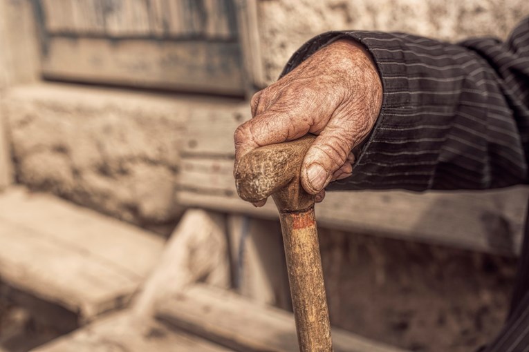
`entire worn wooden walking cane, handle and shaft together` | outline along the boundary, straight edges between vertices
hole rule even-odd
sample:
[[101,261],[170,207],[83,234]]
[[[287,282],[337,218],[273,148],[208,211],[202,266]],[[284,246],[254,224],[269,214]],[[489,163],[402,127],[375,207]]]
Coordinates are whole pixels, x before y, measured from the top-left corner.
[[319,255],[314,196],[299,182],[301,162],[315,136],[264,146],[244,155],[235,169],[239,196],[259,202],[272,196],[279,210],[299,351],[332,351],[331,324]]

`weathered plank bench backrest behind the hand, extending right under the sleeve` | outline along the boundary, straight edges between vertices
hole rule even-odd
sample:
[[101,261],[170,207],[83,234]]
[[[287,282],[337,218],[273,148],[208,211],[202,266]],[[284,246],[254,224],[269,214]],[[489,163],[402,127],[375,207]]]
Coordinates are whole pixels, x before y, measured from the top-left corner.
[[[233,132],[248,118],[246,106],[199,110],[187,124],[176,197],[184,206],[277,219],[272,201],[254,208],[236,195]],[[476,251],[515,254],[528,190],[479,192],[329,192],[317,204],[320,226]]]

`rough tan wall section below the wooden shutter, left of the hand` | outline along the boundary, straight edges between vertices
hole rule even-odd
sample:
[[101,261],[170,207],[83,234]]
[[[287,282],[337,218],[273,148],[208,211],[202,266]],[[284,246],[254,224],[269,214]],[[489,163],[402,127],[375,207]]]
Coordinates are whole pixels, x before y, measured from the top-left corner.
[[18,182],[167,233],[185,121],[212,101],[47,84],[9,90],[1,113]]

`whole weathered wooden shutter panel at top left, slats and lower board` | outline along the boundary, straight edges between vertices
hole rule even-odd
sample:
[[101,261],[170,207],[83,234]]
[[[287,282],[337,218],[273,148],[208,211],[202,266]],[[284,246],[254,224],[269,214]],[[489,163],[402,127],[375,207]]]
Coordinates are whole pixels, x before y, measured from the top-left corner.
[[233,0],[34,3],[44,78],[244,94]]

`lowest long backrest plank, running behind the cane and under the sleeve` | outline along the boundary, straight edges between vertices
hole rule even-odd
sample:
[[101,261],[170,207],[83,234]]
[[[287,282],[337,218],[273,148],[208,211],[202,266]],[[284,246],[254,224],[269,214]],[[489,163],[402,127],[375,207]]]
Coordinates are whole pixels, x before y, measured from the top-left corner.
[[[178,190],[176,199],[184,206],[277,219],[271,199],[263,208],[254,208],[235,192]],[[329,192],[316,205],[316,214],[318,225],[326,228],[517,255],[527,196],[526,188],[479,193]]]

